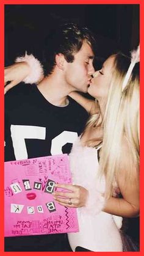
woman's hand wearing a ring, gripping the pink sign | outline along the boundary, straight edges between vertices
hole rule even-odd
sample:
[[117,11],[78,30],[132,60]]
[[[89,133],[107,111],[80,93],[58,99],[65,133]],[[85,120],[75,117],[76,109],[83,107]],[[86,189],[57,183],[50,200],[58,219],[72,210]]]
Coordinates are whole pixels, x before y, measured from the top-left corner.
[[54,199],[64,207],[84,207],[87,201],[88,191],[82,186],[69,184],[56,184],[56,188],[68,189],[70,192],[54,191]]

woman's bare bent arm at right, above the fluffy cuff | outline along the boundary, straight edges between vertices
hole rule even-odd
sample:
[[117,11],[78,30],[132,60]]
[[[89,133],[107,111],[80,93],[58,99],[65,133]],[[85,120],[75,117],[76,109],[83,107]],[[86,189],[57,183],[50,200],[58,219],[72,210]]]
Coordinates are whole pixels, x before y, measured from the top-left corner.
[[[121,154],[123,161],[117,175],[117,183],[123,198],[112,197],[107,200],[103,211],[126,218],[137,217],[139,216],[139,171],[135,170],[134,164],[129,163],[131,152],[126,143],[121,151],[123,151]],[[129,176],[126,170],[130,170]]]

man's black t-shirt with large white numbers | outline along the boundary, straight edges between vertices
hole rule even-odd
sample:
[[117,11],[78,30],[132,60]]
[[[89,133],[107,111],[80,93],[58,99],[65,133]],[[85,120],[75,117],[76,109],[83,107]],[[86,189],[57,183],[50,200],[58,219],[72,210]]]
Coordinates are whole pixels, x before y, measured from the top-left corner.
[[[7,92],[5,161],[70,153],[88,115],[76,101],[68,100],[67,106],[54,106],[34,84]],[[65,234],[5,238],[5,251],[68,251],[67,246]]]

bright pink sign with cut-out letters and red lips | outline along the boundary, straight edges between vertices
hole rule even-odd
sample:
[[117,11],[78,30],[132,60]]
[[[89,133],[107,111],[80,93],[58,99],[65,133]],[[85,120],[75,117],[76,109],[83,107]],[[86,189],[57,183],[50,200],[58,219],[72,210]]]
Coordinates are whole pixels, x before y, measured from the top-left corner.
[[5,236],[78,232],[76,208],[59,205],[54,183],[71,183],[68,155],[5,162]]

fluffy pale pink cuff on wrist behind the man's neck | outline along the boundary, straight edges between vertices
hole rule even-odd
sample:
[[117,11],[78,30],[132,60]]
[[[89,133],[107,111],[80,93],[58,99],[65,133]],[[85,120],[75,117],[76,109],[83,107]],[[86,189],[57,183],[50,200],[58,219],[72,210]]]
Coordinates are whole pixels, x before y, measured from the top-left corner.
[[17,57],[15,62],[27,62],[29,64],[30,73],[23,79],[26,84],[38,83],[43,79],[43,66],[32,54],[26,53],[25,56]]

